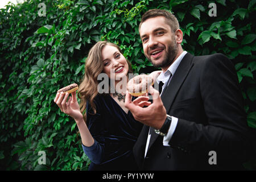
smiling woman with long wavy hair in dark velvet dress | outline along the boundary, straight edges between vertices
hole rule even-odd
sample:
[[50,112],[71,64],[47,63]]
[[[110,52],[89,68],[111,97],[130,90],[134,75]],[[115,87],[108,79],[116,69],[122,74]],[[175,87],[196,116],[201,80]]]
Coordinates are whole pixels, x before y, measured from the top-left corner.
[[[91,160],[89,170],[138,169],[133,146],[142,124],[125,107],[128,73],[132,73],[131,66],[121,49],[113,43],[98,42],[85,61],[85,76],[78,91],[80,106],[76,92],[69,98],[68,93],[56,94],[54,102],[77,123],[82,148]],[[108,84],[100,86],[102,77],[108,78]]]

